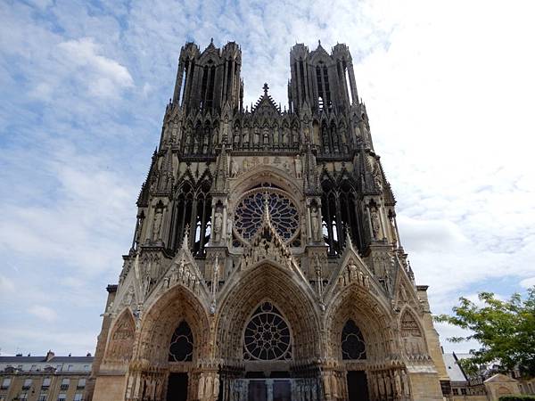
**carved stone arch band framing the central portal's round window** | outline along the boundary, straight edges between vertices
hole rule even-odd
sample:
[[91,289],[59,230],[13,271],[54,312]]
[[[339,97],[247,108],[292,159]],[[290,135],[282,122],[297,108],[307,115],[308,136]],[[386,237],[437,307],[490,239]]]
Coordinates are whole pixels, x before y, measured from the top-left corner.
[[264,299],[280,307],[293,334],[292,356],[302,360],[318,355],[319,319],[317,305],[309,289],[287,268],[263,263],[235,277],[235,285],[226,289],[219,305],[216,322],[219,357],[242,360],[242,334],[251,313]]

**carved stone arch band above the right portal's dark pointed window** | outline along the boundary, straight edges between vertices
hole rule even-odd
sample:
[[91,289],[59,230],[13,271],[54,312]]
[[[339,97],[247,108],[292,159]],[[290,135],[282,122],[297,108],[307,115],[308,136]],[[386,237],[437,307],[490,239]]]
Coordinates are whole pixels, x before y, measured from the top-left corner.
[[331,300],[325,311],[329,356],[342,360],[342,330],[349,320],[357,324],[366,340],[368,362],[378,363],[391,353],[394,334],[388,308],[371,292],[350,284]]

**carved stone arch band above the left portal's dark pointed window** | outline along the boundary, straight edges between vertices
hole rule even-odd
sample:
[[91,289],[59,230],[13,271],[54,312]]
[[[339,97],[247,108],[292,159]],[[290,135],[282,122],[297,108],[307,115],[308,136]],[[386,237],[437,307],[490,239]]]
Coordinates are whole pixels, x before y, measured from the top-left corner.
[[167,365],[173,332],[182,321],[188,323],[195,339],[193,362],[206,356],[210,337],[208,311],[193,292],[178,284],[144,314],[137,357],[153,365]]

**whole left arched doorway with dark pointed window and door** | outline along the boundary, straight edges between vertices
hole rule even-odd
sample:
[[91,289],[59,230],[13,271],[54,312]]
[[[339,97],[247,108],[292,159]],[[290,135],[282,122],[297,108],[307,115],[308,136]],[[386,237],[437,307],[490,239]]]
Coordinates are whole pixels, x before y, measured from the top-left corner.
[[178,284],[142,315],[127,400],[189,400],[198,394],[198,361],[210,353],[207,308]]

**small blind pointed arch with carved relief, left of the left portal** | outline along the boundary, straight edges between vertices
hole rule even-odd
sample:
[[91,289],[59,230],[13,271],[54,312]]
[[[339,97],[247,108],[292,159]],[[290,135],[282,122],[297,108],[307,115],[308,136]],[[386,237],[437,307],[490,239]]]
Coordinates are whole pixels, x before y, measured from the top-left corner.
[[113,324],[106,348],[106,362],[129,362],[132,359],[136,323],[130,309],[125,308]]

